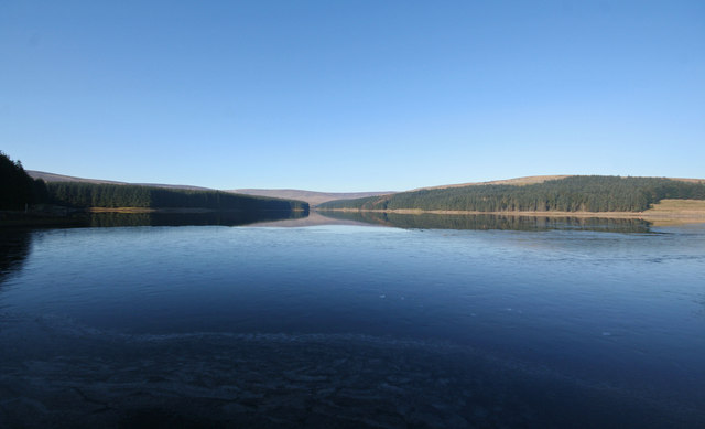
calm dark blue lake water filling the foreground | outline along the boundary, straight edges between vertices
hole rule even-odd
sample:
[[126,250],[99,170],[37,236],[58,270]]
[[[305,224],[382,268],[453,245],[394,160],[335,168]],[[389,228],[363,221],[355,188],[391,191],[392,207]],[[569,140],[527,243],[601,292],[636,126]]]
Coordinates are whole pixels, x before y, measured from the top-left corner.
[[705,226],[492,222],[2,230],[0,427],[705,426]]

